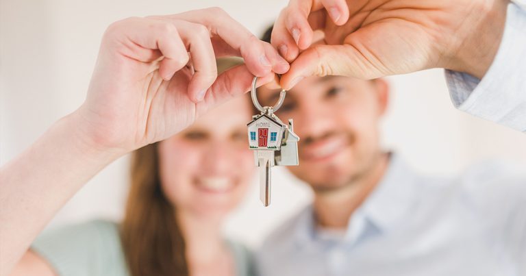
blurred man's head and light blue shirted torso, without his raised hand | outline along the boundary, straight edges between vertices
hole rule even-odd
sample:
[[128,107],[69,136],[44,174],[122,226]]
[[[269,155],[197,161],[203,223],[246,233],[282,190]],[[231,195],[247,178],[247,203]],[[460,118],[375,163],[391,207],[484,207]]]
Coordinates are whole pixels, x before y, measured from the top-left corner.
[[[273,105],[279,87],[258,95]],[[379,145],[388,96],[384,79],[338,76],[288,90],[276,114],[301,137],[288,169],[314,202],[264,242],[261,275],[526,275],[523,168],[416,173]]]

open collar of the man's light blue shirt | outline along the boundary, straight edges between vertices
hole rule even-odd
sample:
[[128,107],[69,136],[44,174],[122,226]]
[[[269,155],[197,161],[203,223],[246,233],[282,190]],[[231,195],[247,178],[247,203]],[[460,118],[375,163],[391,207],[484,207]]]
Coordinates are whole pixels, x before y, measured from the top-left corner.
[[[399,155],[390,154],[384,177],[371,195],[349,218],[345,240],[358,239],[367,227],[385,231],[410,212],[414,202],[416,173],[401,160]],[[296,241],[300,246],[316,240],[314,210],[308,205],[297,217],[295,223]]]

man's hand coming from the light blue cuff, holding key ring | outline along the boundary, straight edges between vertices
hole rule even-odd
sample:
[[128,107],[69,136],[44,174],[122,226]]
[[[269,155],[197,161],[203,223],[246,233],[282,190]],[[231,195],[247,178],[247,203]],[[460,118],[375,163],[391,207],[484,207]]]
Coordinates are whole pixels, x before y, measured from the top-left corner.
[[[483,77],[499,48],[508,0],[290,0],[272,45],[291,88],[310,75],[373,79],[426,68]],[[323,40],[312,45],[314,32]]]

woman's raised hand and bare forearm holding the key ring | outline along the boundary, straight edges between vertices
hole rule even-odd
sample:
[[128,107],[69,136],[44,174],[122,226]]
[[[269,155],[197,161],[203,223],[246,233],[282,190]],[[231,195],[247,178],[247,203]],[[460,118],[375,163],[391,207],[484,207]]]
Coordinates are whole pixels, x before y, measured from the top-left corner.
[[[246,65],[217,76],[221,55],[238,55]],[[104,166],[247,92],[253,75],[271,81],[288,67],[270,44],[218,8],[112,24],[84,104],[0,168],[0,275]],[[27,262],[17,268],[44,274]]]

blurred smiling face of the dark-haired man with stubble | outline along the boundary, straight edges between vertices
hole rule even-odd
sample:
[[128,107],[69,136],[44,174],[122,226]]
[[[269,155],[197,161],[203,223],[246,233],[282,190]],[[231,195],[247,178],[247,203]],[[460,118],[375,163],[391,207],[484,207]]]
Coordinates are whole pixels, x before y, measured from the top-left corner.
[[[276,113],[294,119],[300,137],[299,166],[288,169],[315,191],[334,190],[364,176],[379,160],[378,123],[387,103],[382,79],[308,77],[287,92]],[[274,105],[279,88],[258,90],[262,105]]]

